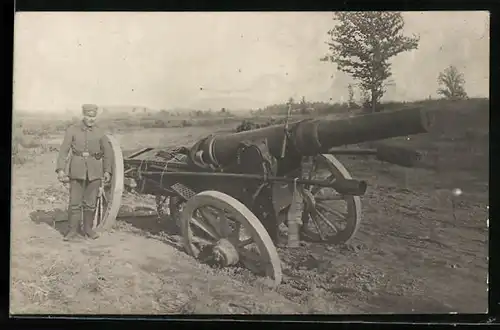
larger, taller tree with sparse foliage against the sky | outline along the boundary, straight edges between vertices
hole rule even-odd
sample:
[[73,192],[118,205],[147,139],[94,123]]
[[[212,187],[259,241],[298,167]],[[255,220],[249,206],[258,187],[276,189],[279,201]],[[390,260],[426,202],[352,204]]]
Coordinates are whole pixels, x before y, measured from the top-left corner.
[[420,39],[402,35],[400,12],[338,12],[334,19],[339,24],[328,31],[330,54],[321,61],[336,63],[358,80],[361,89],[370,92],[371,111],[377,111],[384,82],[391,76],[389,59],[417,49]]

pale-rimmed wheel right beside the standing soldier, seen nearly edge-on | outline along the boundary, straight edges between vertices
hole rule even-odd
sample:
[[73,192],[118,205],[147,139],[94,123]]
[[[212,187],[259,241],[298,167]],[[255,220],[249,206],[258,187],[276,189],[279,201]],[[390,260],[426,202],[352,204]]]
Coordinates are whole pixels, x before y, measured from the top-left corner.
[[111,149],[111,182],[101,183],[94,215],[94,229],[108,230],[116,222],[123,195],[124,165],[120,144],[112,135],[106,135],[106,143]]

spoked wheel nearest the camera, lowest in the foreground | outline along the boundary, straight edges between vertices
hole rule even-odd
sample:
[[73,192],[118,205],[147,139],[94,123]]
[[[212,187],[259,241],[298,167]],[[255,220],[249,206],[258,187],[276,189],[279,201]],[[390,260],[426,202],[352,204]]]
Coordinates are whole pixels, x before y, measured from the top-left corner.
[[281,261],[259,219],[241,202],[218,191],[204,191],[184,205],[180,215],[187,253],[201,262],[242,265],[257,276],[281,283]]

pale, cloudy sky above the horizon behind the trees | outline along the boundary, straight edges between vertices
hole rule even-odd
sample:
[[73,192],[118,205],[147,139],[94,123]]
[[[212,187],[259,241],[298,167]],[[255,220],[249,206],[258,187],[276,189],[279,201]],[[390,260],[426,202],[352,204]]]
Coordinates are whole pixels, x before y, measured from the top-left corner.
[[[450,64],[469,96],[489,94],[487,12],[404,13],[418,50],[398,55],[385,100],[436,97]],[[17,13],[14,108],[64,111],[82,103],[218,109],[305,96],[347,98],[350,78],[319,58],[328,12]]]

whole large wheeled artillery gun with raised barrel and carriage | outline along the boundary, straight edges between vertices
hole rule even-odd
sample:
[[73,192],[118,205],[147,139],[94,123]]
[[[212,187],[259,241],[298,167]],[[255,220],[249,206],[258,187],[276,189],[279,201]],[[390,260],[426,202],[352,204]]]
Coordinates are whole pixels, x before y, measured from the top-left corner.
[[186,252],[200,262],[243,265],[275,284],[282,279],[276,246],[286,225],[288,246],[299,240],[347,243],[361,222],[365,181],[335,154],[375,154],[409,166],[418,154],[391,148],[335,147],[425,133],[432,116],[420,108],[348,119],[306,119],[238,133],[209,135],[192,146],[113,150],[113,180],[96,214],[97,230],[115,223],[125,189],[167,205]]

